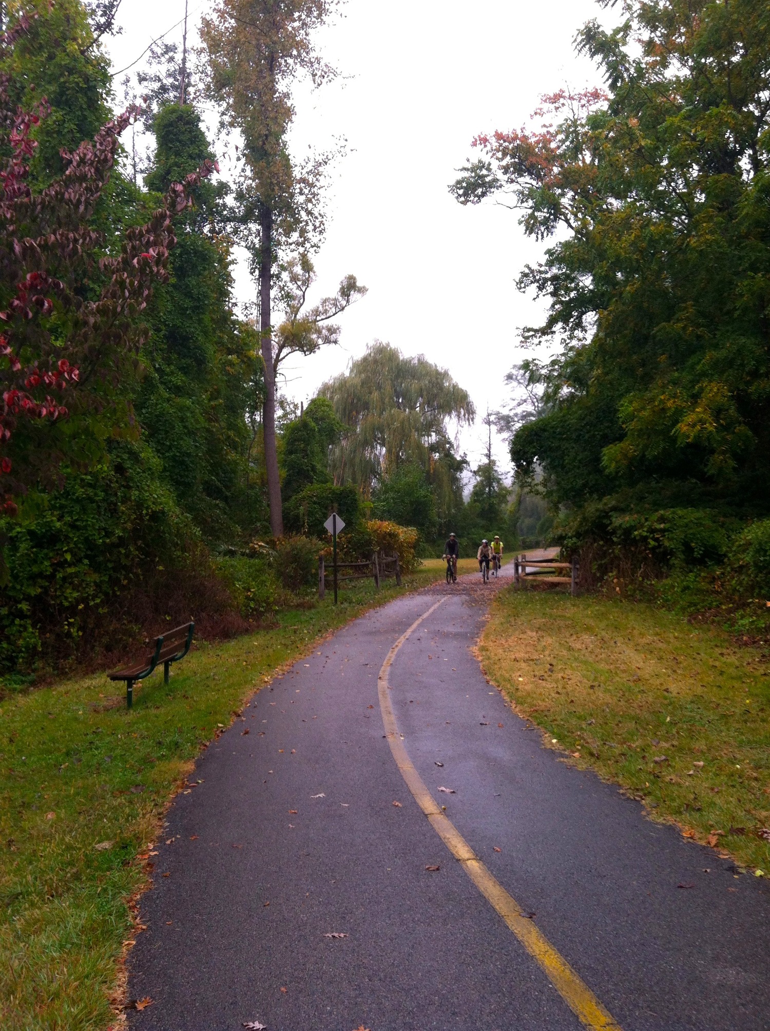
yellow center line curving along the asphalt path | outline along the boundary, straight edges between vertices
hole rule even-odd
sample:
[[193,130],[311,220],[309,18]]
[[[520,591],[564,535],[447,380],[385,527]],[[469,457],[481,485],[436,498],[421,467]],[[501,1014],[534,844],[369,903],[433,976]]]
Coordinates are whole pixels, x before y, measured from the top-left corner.
[[391,690],[391,686],[388,683],[388,675],[393,665],[393,660],[396,658],[401,645],[416,630],[423,620],[427,620],[445,600],[442,598],[440,601],[437,601],[435,605],[432,605],[427,612],[424,612],[419,620],[412,623],[409,629],[399,637],[388,653],[386,661],[379,670],[377,677],[379,709],[382,713],[382,724],[388,742],[391,745],[393,758],[396,760],[396,765],[401,770],[401,775],[406,781],[409,791],[414,796],[414,800],[428,818],[435,832],[455,859],[462,863],[463,869],[473,884],[503,918],[530,956],[537,960],[548,980],[579,1021],[589,1028],[602,1028],[604,1031],[622,1031],[621,1025],[607,1012],[588,985],[580,979],[564,957],[557,952],[548,939],[537,929],[535,924],[524,916],[515,899],[506,892],[500,882],[490,873],[481,860],[474,854],[460,831],[442,811],[441,806],[434,801],[433,796],[407,755],[403,738],[399,733],[396,714],[391,705],[391,698],[388,694]]

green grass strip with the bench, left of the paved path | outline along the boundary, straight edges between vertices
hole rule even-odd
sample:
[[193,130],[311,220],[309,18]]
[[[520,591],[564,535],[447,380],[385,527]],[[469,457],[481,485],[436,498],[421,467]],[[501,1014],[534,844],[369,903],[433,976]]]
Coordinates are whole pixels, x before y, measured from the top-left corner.
[[[432,569],[362,581],[278,626],[198,642],[135,687],[103,673],[0,702],[0,1026],[103,1029],[119,1001],[119,960],[135,930],[169,798],[196,757],[273,672],[367,608],[436,579]],[[193,790],[186,788],[186,790]]]

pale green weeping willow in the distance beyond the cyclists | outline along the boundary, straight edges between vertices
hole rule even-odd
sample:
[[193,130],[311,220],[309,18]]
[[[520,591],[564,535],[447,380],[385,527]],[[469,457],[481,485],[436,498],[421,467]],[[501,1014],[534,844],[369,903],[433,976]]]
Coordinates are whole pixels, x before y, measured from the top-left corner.
[[357,484],[369,496],[400,465],[417,463],[439,511],[453,506],[464,462],[455,455],[447,423],[471,423],[475,411],[445,369],[377,341],[320,393],[348,428],[331,452],[336,484]]

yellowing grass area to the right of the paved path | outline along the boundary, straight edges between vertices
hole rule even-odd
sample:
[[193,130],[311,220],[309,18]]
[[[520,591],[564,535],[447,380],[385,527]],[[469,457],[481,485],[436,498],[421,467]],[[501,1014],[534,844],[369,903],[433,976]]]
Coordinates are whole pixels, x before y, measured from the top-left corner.
[[756,650],[647,604],[507,590],[479,653],[570,763],[770,875],[770,666]]

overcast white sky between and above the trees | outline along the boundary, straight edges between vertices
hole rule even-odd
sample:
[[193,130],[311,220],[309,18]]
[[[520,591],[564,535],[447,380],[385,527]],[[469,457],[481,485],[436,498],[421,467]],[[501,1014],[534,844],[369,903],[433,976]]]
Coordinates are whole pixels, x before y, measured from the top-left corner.
[[[190,0],[193,42],[212,6]],[[123,0],[123,34],[107,41],[115,70],[183,13],[185,0]],[[447,368],[479,417],[501,405],[502,377],[523,357],[516,330],[543,310],[514,280],[543,248],[525,238],[516,212],[491,201],[461,207],[447,185],[476,133],[520,128],[543,93],[599,85],[572,40],[589,19],[616,19],[602,14],[594,0],[348,0],[324,30],[322,52],[341,74],[317,92],[298,89],[293,147],[347,140],[332,176],[319,292],[354,272],[369,293],[341,318],[339,347],[288,370],[290,396],[306,402],[380,339]],[[181,27],[167,38],[179,41]],[[236,286],[241,302],[253,297],[245,268]],[[471,465],[483,436],[478,419],[461,433]],[[502,441],[495,450],[507,472]]]

